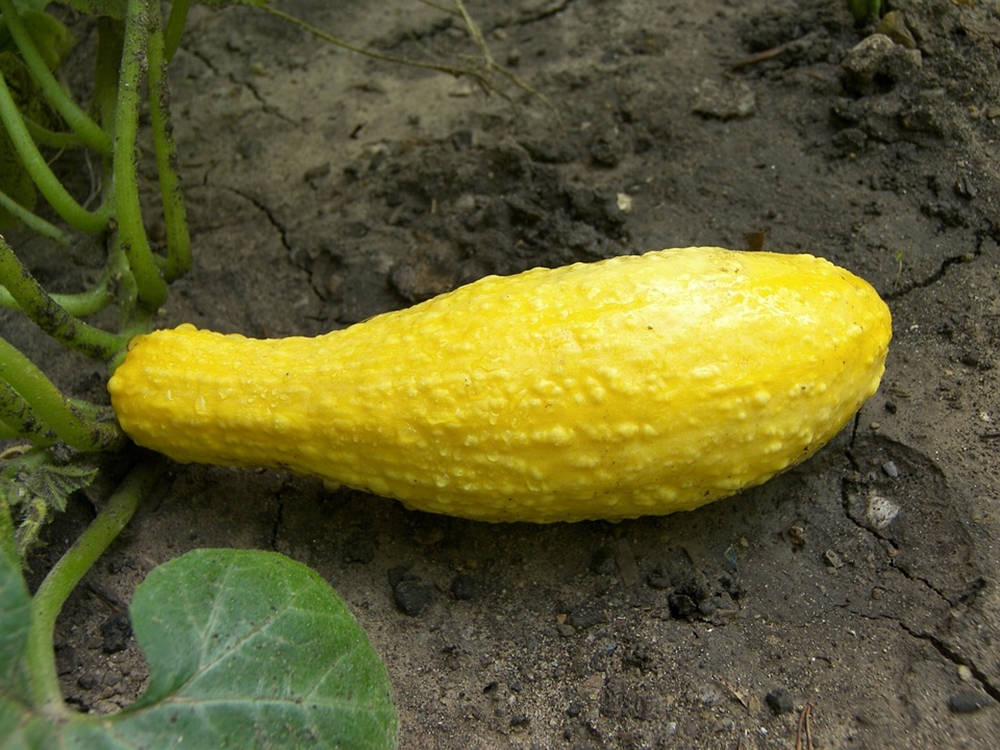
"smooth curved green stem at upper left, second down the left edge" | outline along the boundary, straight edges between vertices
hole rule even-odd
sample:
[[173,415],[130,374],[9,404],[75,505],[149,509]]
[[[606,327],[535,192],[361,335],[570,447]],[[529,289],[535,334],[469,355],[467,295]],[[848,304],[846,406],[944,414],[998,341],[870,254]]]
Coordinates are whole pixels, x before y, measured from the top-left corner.
[[31,139],[3,73],[0,73],[0,121],[24,168],[56,213],[83,232],[96,233],[105,229],[111,216],[110,206],[104,204],[97,211],[88,211],[62,186]]

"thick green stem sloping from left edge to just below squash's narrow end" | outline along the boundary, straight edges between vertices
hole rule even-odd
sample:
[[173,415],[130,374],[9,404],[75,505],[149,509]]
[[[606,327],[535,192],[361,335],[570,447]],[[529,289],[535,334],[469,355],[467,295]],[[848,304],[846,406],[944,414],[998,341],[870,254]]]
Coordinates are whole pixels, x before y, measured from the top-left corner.
[[116,423],[88,419],[30,359],[2,337],[0,381],[10,385],[34,410],[38,420],[71,448],[109,450],[124,440]]

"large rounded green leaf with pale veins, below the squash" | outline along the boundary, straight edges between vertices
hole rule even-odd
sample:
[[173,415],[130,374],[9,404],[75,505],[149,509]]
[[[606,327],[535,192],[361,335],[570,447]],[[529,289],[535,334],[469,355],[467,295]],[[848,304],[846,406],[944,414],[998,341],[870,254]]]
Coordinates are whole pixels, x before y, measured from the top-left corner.
[[157,748],[395,746],[385,667],[306,566],[197,550],[152,571],[131,612],[150,681],[112,718],[115,737]]

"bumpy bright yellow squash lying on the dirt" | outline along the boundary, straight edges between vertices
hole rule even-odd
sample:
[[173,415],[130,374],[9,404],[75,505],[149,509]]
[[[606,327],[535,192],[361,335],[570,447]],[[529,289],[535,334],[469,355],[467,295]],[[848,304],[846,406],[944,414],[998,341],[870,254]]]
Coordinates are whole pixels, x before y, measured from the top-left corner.
[[890,334],[826,260],[686,248],[487,277],[316,338],[156,331],[109,390],[178,461],[484,521],[621,519],[810,456],[875,392]]

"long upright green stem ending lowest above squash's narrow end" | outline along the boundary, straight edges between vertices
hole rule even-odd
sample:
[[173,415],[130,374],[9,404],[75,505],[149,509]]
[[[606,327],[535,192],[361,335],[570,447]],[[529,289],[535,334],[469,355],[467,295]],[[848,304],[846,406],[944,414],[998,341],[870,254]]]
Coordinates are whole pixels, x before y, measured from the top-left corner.
[[[158,2],[159,0],[153,0]],[[114,180],[115,208],[122,249],[135,275],[139,301],[157,308],[167,298],[167,283],[149,247],[142,222],[136,177],[136,131],[139,125],[139,86],[146,62],[151,0],[126,4],[125,38],[118,75],[115,107]]]

